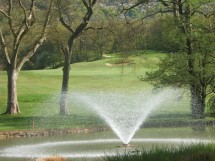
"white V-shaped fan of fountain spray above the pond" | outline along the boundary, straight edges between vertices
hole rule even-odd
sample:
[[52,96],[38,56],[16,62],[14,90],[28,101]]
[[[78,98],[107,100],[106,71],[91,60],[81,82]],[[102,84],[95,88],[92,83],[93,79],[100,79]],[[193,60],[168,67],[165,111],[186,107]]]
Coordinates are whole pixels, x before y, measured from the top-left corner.
[[75,92],[70,100],[92,108],[111,127],[124,145],[127,145],[149,116],[150,112],[173,96],[172,90],[156,94],[142,91]]

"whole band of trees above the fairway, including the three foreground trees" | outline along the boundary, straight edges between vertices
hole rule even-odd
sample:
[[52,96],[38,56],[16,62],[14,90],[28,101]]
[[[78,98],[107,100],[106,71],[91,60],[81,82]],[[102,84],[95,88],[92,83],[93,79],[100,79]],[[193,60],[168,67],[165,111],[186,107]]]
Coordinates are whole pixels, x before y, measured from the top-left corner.
[[[66,114],[70,64],[103,53],[166,51],[142,80],[190,91],[194,118],[215,106],[215,3],[213,0],[3,0],[0,68],[8,74],[5,113],[19,112],[21,69],[63,66],[60,113]],[[46,40],[46,41],[45,41]]]

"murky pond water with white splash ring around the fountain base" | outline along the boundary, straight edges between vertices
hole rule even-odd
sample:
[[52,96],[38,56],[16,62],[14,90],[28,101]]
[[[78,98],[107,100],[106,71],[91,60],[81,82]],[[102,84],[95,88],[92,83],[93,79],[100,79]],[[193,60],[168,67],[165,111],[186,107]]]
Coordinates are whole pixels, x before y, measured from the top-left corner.
[[211,143],[215,141],[215,127],[200,128],[145,128],[140,129],[129,143],[123,146],[111,131],[72,134],[40,138],[17,138],[0,141],[1,161],[31,161],[46,156],[63,156],[68,160],[95,160],[141,148],[177,147],[182,144]]

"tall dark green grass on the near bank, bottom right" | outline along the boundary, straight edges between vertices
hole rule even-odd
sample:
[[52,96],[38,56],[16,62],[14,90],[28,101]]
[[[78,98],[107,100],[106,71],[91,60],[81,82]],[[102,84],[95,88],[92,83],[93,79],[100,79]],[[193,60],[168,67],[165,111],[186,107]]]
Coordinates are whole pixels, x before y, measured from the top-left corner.
[[106,156],[102,161],[214,161],[215,145],[192,145],[178,148],[142,149],[123,155]]

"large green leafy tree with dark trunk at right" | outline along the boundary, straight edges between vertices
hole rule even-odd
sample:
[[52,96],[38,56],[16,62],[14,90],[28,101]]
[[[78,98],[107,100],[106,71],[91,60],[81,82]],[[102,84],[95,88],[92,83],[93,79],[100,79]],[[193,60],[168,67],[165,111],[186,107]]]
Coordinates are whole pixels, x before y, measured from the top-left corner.
[[[148,2],[148,1],[147,1]],[[206,97],[214,93],[214,2],[207,0],[159,0],[162,7],[155,13],[172,13],[179,51],[164,59],[159,69],[145,80],[161,85],[187,85],[191,93],[194,118],[204,117]],[[146,3],[139,1],[136,7]],[[131,7],[131,8],[132,8]],[[207,22],[207,23],[206,23]]]

